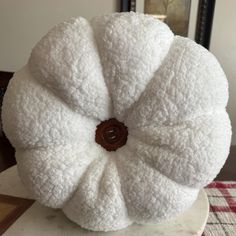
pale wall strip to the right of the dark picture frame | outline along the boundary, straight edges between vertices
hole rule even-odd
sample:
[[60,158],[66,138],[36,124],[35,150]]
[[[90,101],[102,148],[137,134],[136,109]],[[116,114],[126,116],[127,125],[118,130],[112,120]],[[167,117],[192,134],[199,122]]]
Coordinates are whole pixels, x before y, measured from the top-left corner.
[[[226,3],[227,2],[227,3]],[[220,61],[229,81],[227,110],[233,126],[232,144],[236,145],[236,1],[216,0],[210,51]]]

